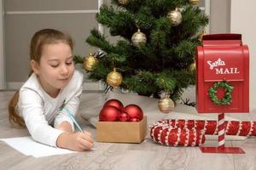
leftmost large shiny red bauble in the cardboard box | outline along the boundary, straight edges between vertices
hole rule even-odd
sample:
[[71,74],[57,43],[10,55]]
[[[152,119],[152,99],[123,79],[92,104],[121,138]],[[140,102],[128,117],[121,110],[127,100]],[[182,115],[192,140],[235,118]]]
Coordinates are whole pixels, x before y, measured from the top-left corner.
[[118,108],[108,105],[102,108],[99,118],[102,122],[114,122],[118,120],[120,111]]

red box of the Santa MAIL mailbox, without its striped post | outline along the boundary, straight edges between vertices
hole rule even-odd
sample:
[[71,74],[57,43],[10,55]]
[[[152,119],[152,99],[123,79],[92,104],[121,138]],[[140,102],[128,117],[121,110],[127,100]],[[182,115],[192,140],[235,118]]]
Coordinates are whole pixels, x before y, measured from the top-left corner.
[[[212,101],[209,88],[216,82],[229,82],[233,87],[230,105]],[[215,88],[218,99],[224,99],[224,88]],[[249,54],[240,34],[215,34],[202,38],[197,47],[196,108],[199,113],[249,111]]]

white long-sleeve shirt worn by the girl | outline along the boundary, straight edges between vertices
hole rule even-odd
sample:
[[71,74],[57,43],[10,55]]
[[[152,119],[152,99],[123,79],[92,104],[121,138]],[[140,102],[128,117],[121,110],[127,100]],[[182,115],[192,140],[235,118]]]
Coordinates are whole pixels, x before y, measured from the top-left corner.
[[47,94],[38,82],[38,77],[33,73],[20,88],[20,98],[17,111],[24,118],[26,127],[32,139],[51,146],[56,146],[56,140],[63,131],[56,129],[61,122],[73,121],[65,111],[59,108],[65,102],[65,108],[76,115],[79,109],[79,97],[83,88],[83,74],[74,71],[73,77],[67,86],[61,89],[56,98]]

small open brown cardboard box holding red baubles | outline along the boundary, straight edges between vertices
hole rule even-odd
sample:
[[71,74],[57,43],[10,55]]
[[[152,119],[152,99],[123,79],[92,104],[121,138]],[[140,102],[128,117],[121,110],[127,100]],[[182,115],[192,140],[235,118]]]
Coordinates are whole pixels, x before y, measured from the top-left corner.
[[141,143],[147,135],[147,116],[141,122],[97,122],[97,142]]

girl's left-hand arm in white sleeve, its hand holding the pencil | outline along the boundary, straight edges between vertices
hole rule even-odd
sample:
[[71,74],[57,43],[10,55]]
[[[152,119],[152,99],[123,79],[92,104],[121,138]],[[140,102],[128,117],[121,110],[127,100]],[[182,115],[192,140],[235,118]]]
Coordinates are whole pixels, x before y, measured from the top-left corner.
[[20,111],[32,139],[51,146],[69,150],[89,150],[93,141],[90,133],[72,132],[69,122],[60,124],[60,129],[49,126],[44,116],[43,103],[36,92],[32,90],[20,91]]

